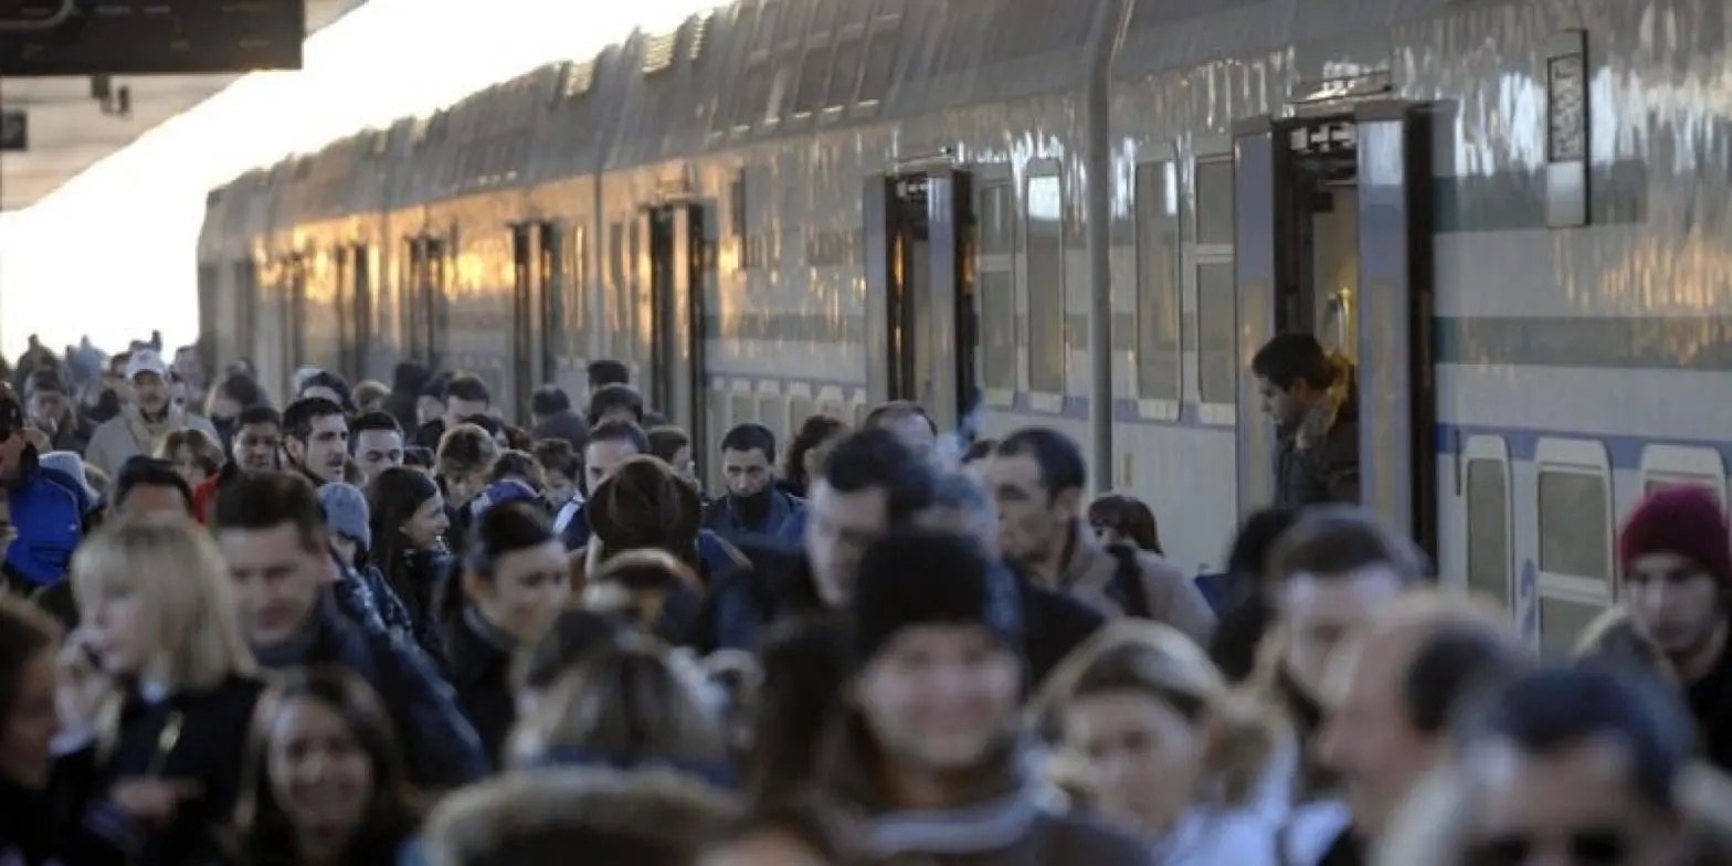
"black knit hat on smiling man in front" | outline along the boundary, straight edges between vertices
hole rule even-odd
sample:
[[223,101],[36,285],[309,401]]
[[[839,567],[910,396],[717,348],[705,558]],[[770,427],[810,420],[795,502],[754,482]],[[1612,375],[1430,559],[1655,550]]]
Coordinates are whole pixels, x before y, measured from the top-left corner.
[[861,665],[911,625],[982,625],[1022,655],[1015,577],[960,535],[894,533],[873,542],[861,556],[850,613]]

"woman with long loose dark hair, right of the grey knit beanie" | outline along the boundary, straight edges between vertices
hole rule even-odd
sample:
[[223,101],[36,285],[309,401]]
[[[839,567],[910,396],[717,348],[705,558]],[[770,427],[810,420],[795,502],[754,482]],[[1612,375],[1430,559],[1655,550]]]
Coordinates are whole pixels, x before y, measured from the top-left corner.
[[430,658],[443,663],[433,596],[452,568],[445,547],[450,518],[433,476],[407,466],[381,471],[367,487],[371,561],[409,610],[409,630]]

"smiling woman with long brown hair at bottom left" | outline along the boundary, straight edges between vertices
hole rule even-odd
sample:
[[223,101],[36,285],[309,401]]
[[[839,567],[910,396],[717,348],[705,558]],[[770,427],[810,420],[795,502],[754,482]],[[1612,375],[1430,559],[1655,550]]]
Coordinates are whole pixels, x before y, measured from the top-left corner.
[[378,695],[355,674],[291,674],[253,719],[232,866],[395,863],[421,811]]

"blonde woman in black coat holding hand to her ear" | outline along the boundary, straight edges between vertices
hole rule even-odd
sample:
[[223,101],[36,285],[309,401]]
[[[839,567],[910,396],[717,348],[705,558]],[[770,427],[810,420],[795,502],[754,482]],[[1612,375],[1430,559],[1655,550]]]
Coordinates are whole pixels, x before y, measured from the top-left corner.
[[229,568],[191,520],[120,521],[73,556],[85,625],[62,655],[62,721],[88,746],[87,824],[140,866],[210,863],[263,689]]

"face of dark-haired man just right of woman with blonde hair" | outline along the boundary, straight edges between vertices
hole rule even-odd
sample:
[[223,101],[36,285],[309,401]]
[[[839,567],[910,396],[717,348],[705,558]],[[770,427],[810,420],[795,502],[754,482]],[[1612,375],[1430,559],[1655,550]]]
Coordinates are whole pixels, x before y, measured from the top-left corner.
[[308,549],[293,523],[216,533],[234,575],[241,624],[253,646],[281,646],[313,615],[336,575],[322,549]]

